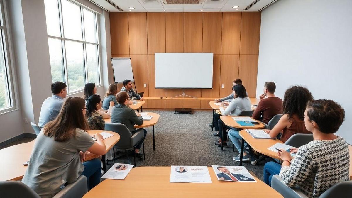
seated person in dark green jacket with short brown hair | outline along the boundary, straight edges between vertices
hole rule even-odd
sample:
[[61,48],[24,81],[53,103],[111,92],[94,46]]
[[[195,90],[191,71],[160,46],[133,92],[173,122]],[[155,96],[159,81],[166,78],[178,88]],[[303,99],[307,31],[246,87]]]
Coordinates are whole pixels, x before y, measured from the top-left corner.
[[[124,124],[127,126],[127,129],[131,131],[132,135],[136,133],[136,129],[134,129],[134,124],[142,125],[143,118],[139,113],[134,112],[134,110],[127,105],[130,103],[130,99],[128,98],[127,92],[119,92],[116,94],[116,101],[119,103],[115,105],[111,112],[111,123]],[[143,129],[144,138],[147,135],[147,130]],[[142,142],[136,145],[137,157],[141,157],[139,154],[139,149],[142,146]]]

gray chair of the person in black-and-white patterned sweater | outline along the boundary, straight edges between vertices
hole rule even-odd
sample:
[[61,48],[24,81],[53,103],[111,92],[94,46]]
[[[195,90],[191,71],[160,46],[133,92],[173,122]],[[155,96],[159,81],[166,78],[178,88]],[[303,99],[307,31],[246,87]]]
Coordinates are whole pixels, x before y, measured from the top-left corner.
[[[272,176],[271,187],[274,188],[285,198],[307,198],[302,191],[295,187],[288,187],[281,180],[279,175]],[[319,198],[344,198],[351,197],[352,194],[352,181],[343,181],[331,186],[328,190],[322,193]]]

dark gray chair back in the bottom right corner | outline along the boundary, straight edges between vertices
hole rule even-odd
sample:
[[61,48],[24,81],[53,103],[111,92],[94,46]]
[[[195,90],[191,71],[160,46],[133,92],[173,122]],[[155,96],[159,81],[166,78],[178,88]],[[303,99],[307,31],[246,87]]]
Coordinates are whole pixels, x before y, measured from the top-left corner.
[[352,181],[342,181],[331,186],[328,190],[323,192],[319,198],[344,198],[352,196]]

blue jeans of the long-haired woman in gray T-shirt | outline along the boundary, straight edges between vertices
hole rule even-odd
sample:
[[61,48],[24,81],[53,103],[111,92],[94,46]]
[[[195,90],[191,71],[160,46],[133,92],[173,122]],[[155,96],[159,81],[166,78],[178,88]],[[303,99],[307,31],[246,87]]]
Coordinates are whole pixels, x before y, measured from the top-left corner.
[[[104,163],[104,162],[103,162]],[[100,183],[101,163],[98,159],[83,162],[84,170],[81,175],[86,176],[88,191]]]

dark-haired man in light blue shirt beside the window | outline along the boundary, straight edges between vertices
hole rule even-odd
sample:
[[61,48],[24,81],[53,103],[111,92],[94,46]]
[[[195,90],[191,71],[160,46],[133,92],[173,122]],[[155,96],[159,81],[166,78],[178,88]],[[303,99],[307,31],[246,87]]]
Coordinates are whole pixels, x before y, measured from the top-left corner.
[[64,98],[67,95],[66,84],[63,82],[54,82],[51,84],[52,96],[45,99],[40,110],[39,123],[38,126],[43,128],[43,126],[54,120],[61,110],[62,104],[64,103]]

